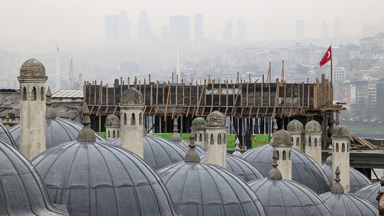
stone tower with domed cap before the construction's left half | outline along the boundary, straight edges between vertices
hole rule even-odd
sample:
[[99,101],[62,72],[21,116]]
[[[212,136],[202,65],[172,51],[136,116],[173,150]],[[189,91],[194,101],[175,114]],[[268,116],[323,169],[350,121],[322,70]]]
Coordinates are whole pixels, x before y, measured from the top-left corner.
[[120,97],[121,147],[144,158],[144,101],[136,88],[125,90]]

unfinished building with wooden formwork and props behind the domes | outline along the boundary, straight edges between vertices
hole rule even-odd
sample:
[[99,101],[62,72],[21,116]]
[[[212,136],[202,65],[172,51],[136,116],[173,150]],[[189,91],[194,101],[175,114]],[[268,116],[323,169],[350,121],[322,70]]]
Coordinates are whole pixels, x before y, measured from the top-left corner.
[[[172,75],[173,77],[173,75]],[[283,77],[283,76],[282,76]],[[269,78],[269,79],[268,79]],[[323,128],[323,149],[338,124],[343,104],[333,104],[332,83],[322,75],[314,83],[286,83],[249,80],[215,79],[178,82],[178,78],[160,83],[148,79],[116,79],[113,86],[103,81],[84,82],[84,100],[91,111],[91,127],[104,131],[108,115],[119,116],[120,95],[130,87],[139,90],[144,99],[144,125],[150,133],[170,133],[176,118],[180,133],[189,133],[192,120],[218,110],[227,117],[228,132],[238,136],[242,146],[250,145],[252,134],[270,134],[276,120],[279,129],[296,119],[305,125],[318,121]],[[243,147],[244,148],[244,147]]]

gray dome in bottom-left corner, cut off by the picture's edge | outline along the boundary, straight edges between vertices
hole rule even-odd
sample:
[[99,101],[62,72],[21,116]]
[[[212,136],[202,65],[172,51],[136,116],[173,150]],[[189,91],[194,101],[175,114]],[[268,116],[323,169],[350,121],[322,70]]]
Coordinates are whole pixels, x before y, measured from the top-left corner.
[[20,151],[0,141],[0,215],[68,215],[51,203],[47,189],[32,164]]

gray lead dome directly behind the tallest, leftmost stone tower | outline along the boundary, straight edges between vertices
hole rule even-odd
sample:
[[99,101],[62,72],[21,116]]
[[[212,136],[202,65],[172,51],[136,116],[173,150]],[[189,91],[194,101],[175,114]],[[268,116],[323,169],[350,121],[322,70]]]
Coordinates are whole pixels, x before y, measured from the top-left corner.
[[[46,149],[49,149],[62,143],[77,140],[77,135],[84,125],[66,118],[46,118],[45,126],[45,145]],[[9,132],[15,139],[17,148],[20,149],[20,124],[9,128]],[[106,141],[96,132],[95,136],[96,140]]]

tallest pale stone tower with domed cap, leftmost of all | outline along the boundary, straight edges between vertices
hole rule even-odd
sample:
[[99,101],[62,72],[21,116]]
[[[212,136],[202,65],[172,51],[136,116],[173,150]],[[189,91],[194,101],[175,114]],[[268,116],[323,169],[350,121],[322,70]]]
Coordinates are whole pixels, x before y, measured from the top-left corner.
[[32,159],[45,151],[44,65],[31,58],[20,67],[20,151]]

